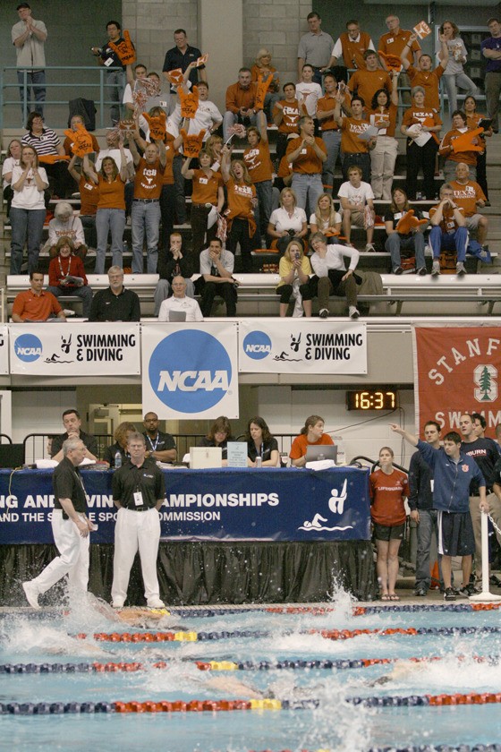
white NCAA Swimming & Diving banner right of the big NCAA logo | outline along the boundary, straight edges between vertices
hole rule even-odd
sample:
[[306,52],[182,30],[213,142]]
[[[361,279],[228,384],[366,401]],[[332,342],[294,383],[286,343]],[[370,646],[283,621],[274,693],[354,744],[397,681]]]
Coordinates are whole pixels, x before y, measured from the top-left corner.
[[367,373],[367,327],[313,319],[244,320],[238,352],[241,372]]

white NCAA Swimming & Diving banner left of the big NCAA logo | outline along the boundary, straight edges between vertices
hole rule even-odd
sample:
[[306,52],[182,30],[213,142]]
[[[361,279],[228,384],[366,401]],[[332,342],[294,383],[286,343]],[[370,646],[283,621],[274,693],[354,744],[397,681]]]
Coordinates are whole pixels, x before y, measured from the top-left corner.
[[140,325],[11,324],[11,373],[121,376],[140,373]]

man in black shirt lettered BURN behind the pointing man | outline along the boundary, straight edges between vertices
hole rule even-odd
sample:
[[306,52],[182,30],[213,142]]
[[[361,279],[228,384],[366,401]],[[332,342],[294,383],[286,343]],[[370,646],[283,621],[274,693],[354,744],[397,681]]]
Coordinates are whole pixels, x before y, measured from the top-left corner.
[[[496,442],[492,439],[479,439],[475,432],[475,425],[471,415],[463,414],[459,419],[459,428],[463,436],[461,449],[464,454],[470,455],[486,479],[486,493],[490,515],[501,527],[501,488],[495,483],[495,466],[499,459]],[[470,489],[470,514],[475,534],[475,578],[477,582],[482,579],[482,534],[481,512],[479,508],[479,489],[472,484]],[[501,536],[497,533],[497,542],[501,544]]]

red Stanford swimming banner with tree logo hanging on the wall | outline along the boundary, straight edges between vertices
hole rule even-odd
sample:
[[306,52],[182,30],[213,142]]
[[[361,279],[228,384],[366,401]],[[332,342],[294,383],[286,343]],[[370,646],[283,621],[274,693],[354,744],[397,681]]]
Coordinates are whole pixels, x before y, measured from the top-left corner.
[[428,420],[458,431],[463,413],[483,414],[492,432],[501,423],[501,329],[414,327],[413,333],[416,433]]

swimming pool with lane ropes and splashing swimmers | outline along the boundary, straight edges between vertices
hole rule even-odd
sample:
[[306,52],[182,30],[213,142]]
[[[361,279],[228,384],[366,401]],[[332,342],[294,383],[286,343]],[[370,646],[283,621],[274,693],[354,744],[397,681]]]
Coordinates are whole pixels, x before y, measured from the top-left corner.
[[[446,634],[451,627],[455,633]],[[409,628],[428,633],[414,634]],[[353,636],[354,630],[365,629],[375,631]],[[387,629],[402,631],[382,634]],[[433,629],[437,631],[430,634]],[[304,610],[173,609],[166,625],[149,629],[110,623],[88,604],[66,616],[4,613],[0,747],[357,752],[493,744],[501,739],[499,702],[419,703],[429,695],[497,693],[498,629],[497,609],[472,611],[466,602],[456,602],[454,608],[364,610],[346,594],[337,594],[325,608],[317,604]],[[335,630],[347,631],[343,639],[329,638]],[[71,637],[82,633],[88,637]],[[157,633],[172,633],[176,639],[143,641]],[[99,640],[95,634],[127,641]],[[414,658],[437,660],[409,660]],[[369,665],[376,659],[391,662]],[[122,665],[115,671],[120,663],[132,663],[134,670]],[[106,664],[113,670],[106,671]],[[149,705],[146,712],[137,712],[145,705],[130,705],[221,704],[250,697],[257,707],[233,711],[177,710],[183,705],[162,711],[160,705]],[[374,705],[385,697],[392,705]],[[395,697],[412,705],[398,705]],[[113,705],[116,701],[132,712],[96,712],[97,707],[120,709]],[[35,705],[39,714],[31,714]],[[151,708],[157,712],[149,712]]]

